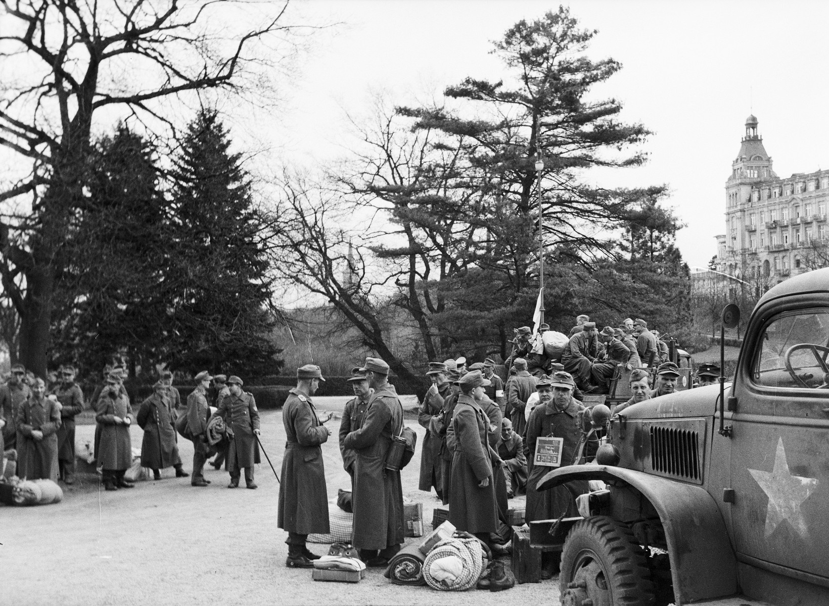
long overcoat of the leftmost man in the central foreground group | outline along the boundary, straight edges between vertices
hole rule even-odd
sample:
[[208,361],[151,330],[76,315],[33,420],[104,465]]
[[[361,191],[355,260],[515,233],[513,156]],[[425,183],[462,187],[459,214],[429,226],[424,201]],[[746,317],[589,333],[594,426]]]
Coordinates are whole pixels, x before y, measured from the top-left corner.
[[328,440],[311,398],[294,387],[282,407],[288,441],[282,458],[277,527],[302,535],[330,532],[320,445]]

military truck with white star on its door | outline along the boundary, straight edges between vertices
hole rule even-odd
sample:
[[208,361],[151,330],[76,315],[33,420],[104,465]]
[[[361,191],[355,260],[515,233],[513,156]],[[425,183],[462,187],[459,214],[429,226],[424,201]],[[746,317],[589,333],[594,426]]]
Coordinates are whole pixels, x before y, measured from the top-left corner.
[[725,397],[715,385],[630,406],[594,464],[545,475],[540,490],[606,485],[560,521],[562,604],[829,604],[827,358],[822,269],[765,293]]

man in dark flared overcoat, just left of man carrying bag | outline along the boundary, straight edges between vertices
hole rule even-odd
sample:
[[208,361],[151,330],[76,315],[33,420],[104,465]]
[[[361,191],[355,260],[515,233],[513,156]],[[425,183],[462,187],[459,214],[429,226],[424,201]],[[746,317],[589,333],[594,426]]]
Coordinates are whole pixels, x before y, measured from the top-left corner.
[[187,478],[178,454],[176,420],[172,414],[172,402],[167,396],[167,386],[162,381],[153,385],[153,395],[141,402],[136,419],[144,430],[141,440],[141,464],[153,469],[154,479],[161,479],[159,469],[176,468],[177,478]]

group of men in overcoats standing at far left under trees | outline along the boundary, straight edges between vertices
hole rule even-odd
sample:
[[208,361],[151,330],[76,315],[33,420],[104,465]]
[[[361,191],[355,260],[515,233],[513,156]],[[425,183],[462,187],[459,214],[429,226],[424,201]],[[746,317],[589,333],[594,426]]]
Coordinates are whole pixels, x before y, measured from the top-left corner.
[[[27,373],[22,364],[12,365],[6,385],[0,386],[0,451],[17,450],[17,475],[22,479],[61,480],[75,483],[75,416],[84,410],[84,394],[75,382],[75,368],[59,368],[56,380],[46,382]],[[153,479],[161,479],[161,469],[173,467],[177,478],[190,476],[183,469],[178,453],[178,436],[193,442],[191,485],[205,487],[203,468],[211,454],[213,466],[230,474],[228,488],[239,485],[245,469],[247,488],[256,488],[254,465],[259,463],[259,411],[252,394],[242,389],[239,377],[203,371],[196,375],[196,388],[182,399],[172,386],[172,373],[165,371],[153,385],[133,419],[129,397],[124,387],[126,369],[104,368],[104,383],[95,389],[95,464],[101,483],[109,491],[133,488],[125,478],[133,465],[129,427],[133,421],[143,429],[140,465],[152,469]],[[215,399],[207,397],[214,383]]]

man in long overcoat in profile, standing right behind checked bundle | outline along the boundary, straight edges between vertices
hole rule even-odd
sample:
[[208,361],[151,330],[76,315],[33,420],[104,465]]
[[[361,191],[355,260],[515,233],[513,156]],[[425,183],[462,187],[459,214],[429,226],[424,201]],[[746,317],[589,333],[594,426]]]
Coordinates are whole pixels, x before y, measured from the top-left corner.
[[449,522],[491,544],[498,511],[489,453],[489,419],[476,401],[486,384],[480,371],[465,374],[446,442],[452,450],[452,498]]

